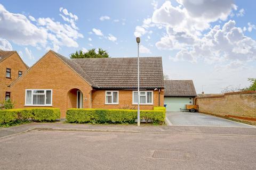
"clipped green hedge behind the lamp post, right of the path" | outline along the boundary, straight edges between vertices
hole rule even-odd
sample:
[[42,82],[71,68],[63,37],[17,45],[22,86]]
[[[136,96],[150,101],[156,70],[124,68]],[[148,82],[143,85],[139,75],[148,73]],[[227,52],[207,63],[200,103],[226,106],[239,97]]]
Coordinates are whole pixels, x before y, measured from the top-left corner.
[[[164,111],[140,111],[140,118],[163,123]],[[129,109],[68,109],[68,122],[73,123],[134,123],[137,119],[137,110]]]

